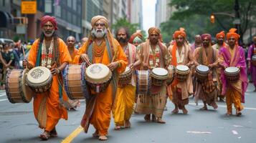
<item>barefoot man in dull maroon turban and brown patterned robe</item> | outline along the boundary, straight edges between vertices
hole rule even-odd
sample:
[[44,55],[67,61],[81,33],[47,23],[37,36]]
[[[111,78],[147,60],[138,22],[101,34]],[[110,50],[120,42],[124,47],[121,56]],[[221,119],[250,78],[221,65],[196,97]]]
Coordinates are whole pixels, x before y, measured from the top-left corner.
[[202,110],[207,110],[207,104],[217,109],[218,106],[215,102],[217,87],[214,84],[214,79],[216,79],[215,68],[218,65],[218,51],[211,46],[212,36],[210,34],[202,34],[201,37],[203,46],[195,49],[194,64],[195,66],[199,66],[199,64],[208,66],[209,74],[204,82],[196,81],[195,102],[197,104],[198,99],[202,99],[204,102]]

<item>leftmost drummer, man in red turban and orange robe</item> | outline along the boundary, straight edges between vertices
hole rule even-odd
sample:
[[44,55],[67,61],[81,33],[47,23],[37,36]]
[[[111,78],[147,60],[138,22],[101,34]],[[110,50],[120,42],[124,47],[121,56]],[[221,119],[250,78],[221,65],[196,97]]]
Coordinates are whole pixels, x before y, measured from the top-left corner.
[[32,69],[35,66],[45,66],[53,75],[52,87],[48,92],[37,94],[34,97],[34,117],[39,127],[44,129],[40,134],[42,140],[57,137],[55,126],[59,120],[67,119],[67,110],[60,104],[60,99],[67,100],[67,95],[62,86],[61,71],[71,61],[67,46],[62,39],[57,37],[57,21],[52,16],[43,16],[41,19],[42,34],[34,41],[28,59],[23,61],[23,67]]

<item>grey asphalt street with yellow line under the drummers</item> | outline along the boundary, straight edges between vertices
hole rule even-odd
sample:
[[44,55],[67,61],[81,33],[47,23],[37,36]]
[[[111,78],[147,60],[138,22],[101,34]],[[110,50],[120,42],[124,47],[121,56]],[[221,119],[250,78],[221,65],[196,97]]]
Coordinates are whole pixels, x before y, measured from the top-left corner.
[[[166,124],[144,122],[143,115],[133,114],[131,129],[115,131],[112,119],[107,142],[255,142],[256,93],[252,91],[250,84],[242,117],[227,117],[224,102],[218,102],[217,110],[209,107],[209,111],[200,111],[202,102],[196,106],[191,98],[187,106],[189,114],[171,114],[174,106],[169,101],[168,110],[163,116]],[[81,107],[77,111],[69,111],[67,121],[60,120],[57,124],[59,137],[47,142],[99,142],[92,137],[92,126],[88,134],[80,128],[84,110],[85,102],[81,101]],[[6,99],[5,92],[1,91],[0,142],[39,142],[38,136],[42,130],[37,127],[32,111],[32,102],[11,104]]]

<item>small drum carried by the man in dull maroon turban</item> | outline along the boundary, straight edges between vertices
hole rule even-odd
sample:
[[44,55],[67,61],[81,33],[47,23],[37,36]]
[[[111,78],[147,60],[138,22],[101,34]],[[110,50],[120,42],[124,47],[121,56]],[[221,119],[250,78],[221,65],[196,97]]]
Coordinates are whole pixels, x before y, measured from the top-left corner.
[[196,66],[196,79],[199,82],[204,82],[208,77],[208,73],[209,73],[208,66],[204,66],[202,64],[200,64],[199,66]]

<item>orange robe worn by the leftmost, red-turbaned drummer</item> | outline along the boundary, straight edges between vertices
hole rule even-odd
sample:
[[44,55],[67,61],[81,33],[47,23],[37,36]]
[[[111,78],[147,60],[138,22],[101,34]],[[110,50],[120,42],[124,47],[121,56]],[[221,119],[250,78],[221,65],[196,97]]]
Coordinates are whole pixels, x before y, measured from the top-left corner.
[[[64,62],[70,62],[70,54],[67,50],[67,46],[62,39],[58,39],[59,49],[60,49],[60,64]],[[34,67],[37,62],[37,47],[39,47],[39,40],[34,41],[32,48],[29,51],[28,61]],[[52,87],[49,92],[44,92],[43,94],[37,94],[34,97],[34,117],[39,123],[39,127],[45,129],[45,131],[51,131],[59,122],[59,120],[67,120],[67,110],[60,104],[59,97],[59,84],[57,81],[57,76],[52,77]],[[62,98],[67,99],[67,95],[62,91]]]

